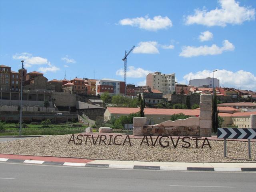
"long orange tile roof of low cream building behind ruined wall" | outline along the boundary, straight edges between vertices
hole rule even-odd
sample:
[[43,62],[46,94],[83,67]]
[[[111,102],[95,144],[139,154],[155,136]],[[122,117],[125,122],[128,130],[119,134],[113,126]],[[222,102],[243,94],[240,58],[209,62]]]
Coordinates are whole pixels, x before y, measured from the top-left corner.
[[[126,108],[126,107],[108,107],[107,108],[112,114],[131,114],[140,111],[140,108]],[[199,110],[193,109],[156,109],[156,108],[145,108],[145,115],[173,115],[177,113],[184,113],[185,115],[197,116]]]

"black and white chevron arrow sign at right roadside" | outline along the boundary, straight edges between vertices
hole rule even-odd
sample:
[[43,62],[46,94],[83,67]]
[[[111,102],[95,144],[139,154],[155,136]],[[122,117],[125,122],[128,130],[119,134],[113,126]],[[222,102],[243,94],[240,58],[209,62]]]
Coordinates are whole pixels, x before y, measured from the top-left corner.
[[218,138],[222,138],[222,139],[256,139],[256,129],[252,129],[252,128],[218,128]]

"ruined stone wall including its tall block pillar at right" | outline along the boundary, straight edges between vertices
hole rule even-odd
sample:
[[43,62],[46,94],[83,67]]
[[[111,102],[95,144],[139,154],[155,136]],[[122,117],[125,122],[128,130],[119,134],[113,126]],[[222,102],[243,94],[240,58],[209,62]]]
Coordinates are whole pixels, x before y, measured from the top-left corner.
[[212,135],[212,95],[200,96],[200,116],[184,120],[165,121],[147,125],[146,117],[133,118],[135,136],[211,136]]

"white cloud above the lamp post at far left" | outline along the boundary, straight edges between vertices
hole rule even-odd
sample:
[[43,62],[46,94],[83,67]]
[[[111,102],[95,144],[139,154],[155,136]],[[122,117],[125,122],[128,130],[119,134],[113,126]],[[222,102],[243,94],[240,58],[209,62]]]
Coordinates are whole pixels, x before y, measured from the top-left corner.
[[31,67],[32,65],[43,65],[47,64],[48,60],[46,58],[42,57],[33,57],[32,54],[29,53],[21,53],[21,54],[15,54],[12,56],[14,60],[24,60],[24,67],[28,68]]

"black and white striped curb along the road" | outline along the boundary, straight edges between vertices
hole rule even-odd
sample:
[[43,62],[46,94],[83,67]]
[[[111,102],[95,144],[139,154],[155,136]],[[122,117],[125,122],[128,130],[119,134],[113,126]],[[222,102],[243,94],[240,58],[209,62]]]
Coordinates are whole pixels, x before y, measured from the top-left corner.
[[92,167],[92,168],[118,168],[133,170],[168,170],[168,171],[212,171],[212,172],[256,172],[256,168],[250,167],[174,167],[174,166],[142,166],[142,165],[123,165],[123,164],[94,164],[94,163],[74,163],[74,162],[54,162],[42,160],[21,160],[0,158],[0,162],[42,164],[58,166]]

